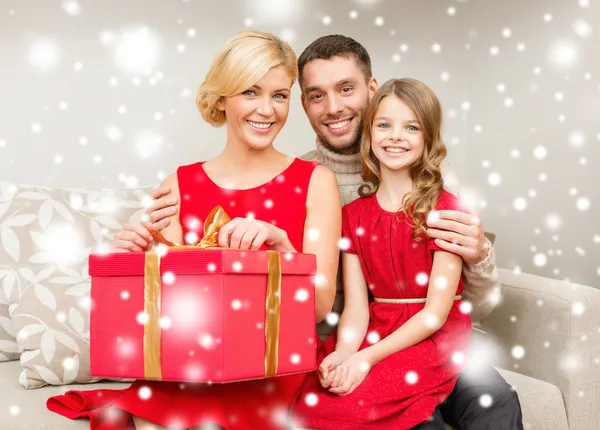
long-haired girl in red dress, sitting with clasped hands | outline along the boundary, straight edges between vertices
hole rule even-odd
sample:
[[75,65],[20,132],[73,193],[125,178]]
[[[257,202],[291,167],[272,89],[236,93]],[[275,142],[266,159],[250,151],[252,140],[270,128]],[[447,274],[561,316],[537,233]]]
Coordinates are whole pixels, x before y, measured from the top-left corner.
[[435,210],[464,210],[443,189],[441,125],[437,97],[414,79],[386,82],[367,109],[366,184],[342,214],[346,302],[292,404],[299,427],[445,428],[436,407],[464,367],[471,321],[461,258],[425,234]]

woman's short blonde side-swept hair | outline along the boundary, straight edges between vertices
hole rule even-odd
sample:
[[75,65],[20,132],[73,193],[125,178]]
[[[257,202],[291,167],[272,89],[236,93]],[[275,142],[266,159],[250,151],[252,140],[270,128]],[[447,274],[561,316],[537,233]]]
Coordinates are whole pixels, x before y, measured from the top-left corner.
[[256,84],[273,67],[283,66],[295,82],[296,54],[290,45],[271,33],[243,31],[229,39],[213,60],[198,89],[196,105],[202,118],[220,127],[225,112],[217,109],[223,97],[232,97]]

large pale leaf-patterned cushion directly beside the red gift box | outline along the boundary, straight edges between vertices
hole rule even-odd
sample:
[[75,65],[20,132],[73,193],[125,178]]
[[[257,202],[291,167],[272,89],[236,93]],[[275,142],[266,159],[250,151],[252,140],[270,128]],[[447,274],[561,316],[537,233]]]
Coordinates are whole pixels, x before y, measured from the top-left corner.
[[4,301],[22,351],[19,381],[26,388],[93,382],[88,256],[108,251],[122,222],[141,219],[145,190],[3,187],[10,206],[0,219],[0,267],[14,277]]

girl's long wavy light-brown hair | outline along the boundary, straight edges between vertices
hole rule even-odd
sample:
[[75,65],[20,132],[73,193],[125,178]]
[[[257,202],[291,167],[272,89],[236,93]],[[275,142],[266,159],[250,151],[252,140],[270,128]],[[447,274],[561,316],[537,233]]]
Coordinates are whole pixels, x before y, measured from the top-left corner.
[[420,241],[421,236],[426,235],[427,214],[435,208],[444,188],[441,164],[446,157],[446,145],[441,136],[442,108],[431,88],[416,79],[391,79],[379,88],[367,107],[360,144],[362,177],[366,182],[359,188],[363,197],[377,192],[381,181],[380,163],[371,148],[371,130],[377,109],[386,97],[397,97],[412,109],[421,123],[423,154],[410,166],[413,188],[404,196],[401,209],[412,221],[413,237]]

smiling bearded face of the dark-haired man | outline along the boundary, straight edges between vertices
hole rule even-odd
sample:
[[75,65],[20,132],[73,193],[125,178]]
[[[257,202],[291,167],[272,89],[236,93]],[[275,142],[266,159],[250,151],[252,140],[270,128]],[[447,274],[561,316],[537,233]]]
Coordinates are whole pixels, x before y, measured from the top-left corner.
[[323,144],[335,152],[358,152],[365,110],[377,81],[365,82],[354,58],[333,57],[306,63],[302,88],[302,106]]

